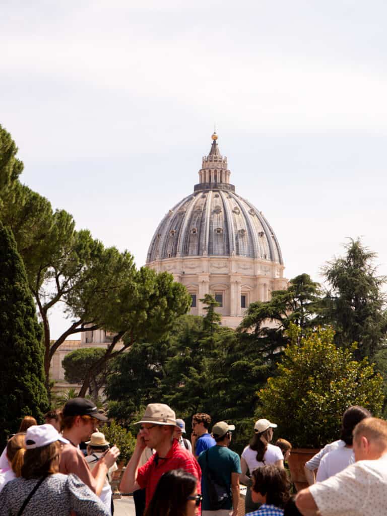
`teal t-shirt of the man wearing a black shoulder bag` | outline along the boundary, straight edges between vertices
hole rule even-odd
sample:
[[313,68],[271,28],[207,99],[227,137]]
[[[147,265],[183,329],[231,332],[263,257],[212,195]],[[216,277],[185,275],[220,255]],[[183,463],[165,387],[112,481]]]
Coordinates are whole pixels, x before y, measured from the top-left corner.
[[231,473],[241,473],[239,455],[235,451],[230,450],[227,446],[212,446],[208,450],[203,451],[198,458],[199,465],[202,470],[202,510],[211,511],[207,494],[207,472],[205,454],[208,453],[209,469],[224,485],[228,486],[230,498],[224,502],[222,509],[232,508],[231,499]]

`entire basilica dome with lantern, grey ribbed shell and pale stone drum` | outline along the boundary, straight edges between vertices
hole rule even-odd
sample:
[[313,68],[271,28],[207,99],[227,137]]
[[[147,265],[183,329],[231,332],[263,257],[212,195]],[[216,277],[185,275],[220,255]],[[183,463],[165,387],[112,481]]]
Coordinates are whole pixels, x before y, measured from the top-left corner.
[[204,315],[199,299],[212,294],[221,302],[222,324],[236,327],[251,302],[267,301],[287,280],[277,237],[262,212],[235,193],[217,138],[193,193],[159,223],[147,265],[187,287],[192,314]]

